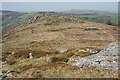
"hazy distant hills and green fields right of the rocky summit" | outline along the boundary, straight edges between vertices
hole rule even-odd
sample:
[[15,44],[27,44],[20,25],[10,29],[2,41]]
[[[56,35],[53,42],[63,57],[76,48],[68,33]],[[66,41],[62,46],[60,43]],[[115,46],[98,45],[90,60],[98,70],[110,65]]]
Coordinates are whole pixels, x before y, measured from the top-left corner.
[[110,24],[114,26],[118,25],[118,15],[117,13],[113,12],[72,9],[68,11],[63,11],[61,13],[83,19],[92,20],[95,22]]

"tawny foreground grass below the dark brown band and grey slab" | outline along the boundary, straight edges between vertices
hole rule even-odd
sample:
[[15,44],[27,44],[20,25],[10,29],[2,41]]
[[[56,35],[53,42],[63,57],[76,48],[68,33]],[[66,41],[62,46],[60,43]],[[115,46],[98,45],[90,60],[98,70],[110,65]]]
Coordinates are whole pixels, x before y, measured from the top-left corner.
[[79,69],[76,66],[65,63],[65,60],[73,54],[61,53],[54,58],[56,62],[47,63],[47,59],[53,55],[34,59],[18,59],[17,64],[3,64],[3,71],[17,70],[21,73],[13,78],[117,78],[118,70],[107,70],[97,67]]

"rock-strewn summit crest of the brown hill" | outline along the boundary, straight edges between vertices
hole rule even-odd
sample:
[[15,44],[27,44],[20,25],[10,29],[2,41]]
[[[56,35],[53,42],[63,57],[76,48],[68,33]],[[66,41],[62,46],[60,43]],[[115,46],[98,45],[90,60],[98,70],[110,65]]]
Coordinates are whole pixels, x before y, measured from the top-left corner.
[[[73,16],[67,16],[64,14],[56,14],[50,12],[43,12],[38,14],[37,16],[31,17],[26,20],[27,24],[32,24],[35,22],[42,22],[42,21],[52,21],[53,23],[60,23],[60,22],[81,22],[79,18]],[[82,21],[83,22],[83,21]],[[47,22],[48,23],[48,22]]]

